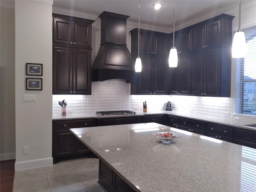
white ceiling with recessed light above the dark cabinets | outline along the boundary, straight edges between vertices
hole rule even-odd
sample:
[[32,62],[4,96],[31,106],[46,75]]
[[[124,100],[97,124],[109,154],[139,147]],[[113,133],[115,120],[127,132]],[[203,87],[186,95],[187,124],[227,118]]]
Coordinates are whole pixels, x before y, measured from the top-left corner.
[[[153,4],[163,4],[154,10]],[[173,0],[140,0],[140,22],[169,28],[173,26]],[[127,20],[138,22],[138,0],[53,0],[53,7],[100,15],[103,11],[130,16]],[[239,0],[176,0],[175,23],[189,22],[217,10],[237,6]],[[221,12],[222,13],[222,12]]]

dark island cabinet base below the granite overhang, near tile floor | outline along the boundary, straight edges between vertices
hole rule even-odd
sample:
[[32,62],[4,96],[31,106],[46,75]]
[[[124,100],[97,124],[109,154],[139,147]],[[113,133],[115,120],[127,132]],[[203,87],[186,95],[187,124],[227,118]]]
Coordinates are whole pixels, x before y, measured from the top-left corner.
[[99,181],[107,192],[135,192],[120,176],[108,165],[99,160]]

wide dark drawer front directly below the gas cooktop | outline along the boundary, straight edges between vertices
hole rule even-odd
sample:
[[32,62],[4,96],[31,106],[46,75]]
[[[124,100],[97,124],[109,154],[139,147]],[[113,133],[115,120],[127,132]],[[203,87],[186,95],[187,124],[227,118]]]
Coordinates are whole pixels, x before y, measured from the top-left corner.
[[101,125],[121,125],[140,123],[140,117],[117,117],[117,118],[105,118],[101,120]]

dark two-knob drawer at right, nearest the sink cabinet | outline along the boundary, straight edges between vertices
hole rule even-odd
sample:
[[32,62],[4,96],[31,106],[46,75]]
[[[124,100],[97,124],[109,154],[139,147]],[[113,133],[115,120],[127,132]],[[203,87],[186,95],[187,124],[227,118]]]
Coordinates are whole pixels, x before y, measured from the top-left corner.
[[206,131],[217,135],[233,137],[233,128],[228,126],[208,123],[206,126]]

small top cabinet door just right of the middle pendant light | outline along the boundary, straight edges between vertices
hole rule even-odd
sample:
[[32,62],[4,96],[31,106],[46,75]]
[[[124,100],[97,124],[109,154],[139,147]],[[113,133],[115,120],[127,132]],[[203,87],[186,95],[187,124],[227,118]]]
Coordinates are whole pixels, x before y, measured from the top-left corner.
[[192,50],[192,30],[182,30],[179,33],[180,36],[180,53],[190,52]]

